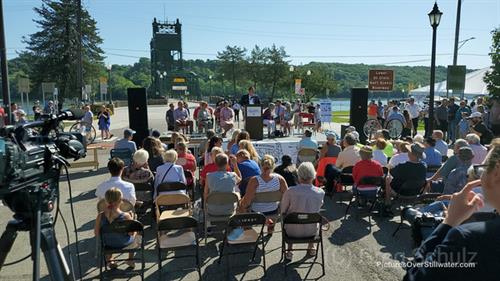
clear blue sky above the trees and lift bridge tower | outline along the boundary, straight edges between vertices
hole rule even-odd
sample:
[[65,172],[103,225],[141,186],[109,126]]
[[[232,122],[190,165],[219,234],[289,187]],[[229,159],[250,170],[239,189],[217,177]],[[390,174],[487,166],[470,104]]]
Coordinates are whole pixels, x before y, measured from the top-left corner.
[[[4,0],[7,53],[37,30],[37,0]],[[430,65],[431,0],[82,0],[104,39],[106,63],[149,57],[151,22],[183,24],[185,58],[213,59],[226,45],[284,46],[294,64],[310,61]],[[456,0],[438,1],[437,64],[452,63]],[[500,0],[463,0],[459,64],[490,65],[490,31],[500,26]]]

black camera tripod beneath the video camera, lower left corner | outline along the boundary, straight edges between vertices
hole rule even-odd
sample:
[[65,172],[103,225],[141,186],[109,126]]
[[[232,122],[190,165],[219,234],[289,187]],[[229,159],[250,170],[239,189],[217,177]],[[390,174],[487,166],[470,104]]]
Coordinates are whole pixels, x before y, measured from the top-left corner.
[[44,187],[37,187],[32,192],[36,194],[34,196],[36,200],[33,200],[35,201],[34,214],[14,214],[14,219],[9,221],[0,237],[0,270],[14,244],[17,233],[19,231],[28,231],[31,244],[31,259],[33,260],[33,280],[40,280],[40,249],[42,249],[51,280],[72,281],[73,277],[68,264],[61,247],[57,243],[52,214],[42,208]]

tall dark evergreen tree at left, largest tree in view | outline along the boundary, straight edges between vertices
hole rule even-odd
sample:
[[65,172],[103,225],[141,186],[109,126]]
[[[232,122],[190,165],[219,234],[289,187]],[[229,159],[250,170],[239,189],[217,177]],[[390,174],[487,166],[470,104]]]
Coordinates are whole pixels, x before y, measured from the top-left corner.
[[[33,20],[40,30],[24,38],[28,50],[35,57],[30,78],[36,84],[44,81],[55,82],[59,88],[59,99],[78,96],[77,61],[78,38],[77,1],[42,0],[41,7],[35,8],[38,17]],[[97,79],[103,61],[103,51],[99,47],[96,21],[88,11],[81,8],[82,68],[85,83]]]

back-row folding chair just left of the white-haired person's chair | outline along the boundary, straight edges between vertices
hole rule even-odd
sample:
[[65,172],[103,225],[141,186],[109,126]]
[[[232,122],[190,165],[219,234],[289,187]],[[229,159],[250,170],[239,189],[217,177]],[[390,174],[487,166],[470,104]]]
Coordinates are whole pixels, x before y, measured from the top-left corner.
[[[249,266],[260,266],[264,270],[264,275],[266,275],[266,250],[264,243],[264,225],[266,224],[266,217],[260,213],[246,213],[246,214],[238,214],[232,216],[228,225],[224,231],[224,241],[220,247],[220,254],[218,263],[220,264],[222,261],[222,257],[226,256],[226,275],[229,275],[230,265],[229,265],[229,256],[232,255],[240,255],[240,254],[248,254],[253,253],[251,262],[255,261],[255,256],[257,254],[257,249],[259,248],[259,244],[262,246],[262,263],[263,265],[258,264],[249,264]],[[257,227],[257,230],[255,229]],[[231,232],[236,228],[243,228],[243,233],[239,237],[231,237],[236,239],[230,239]],[[253,246],[252,251],[237,251],[230,252],[228,248],[237,247],[237,246]],[[225,252],[225,250],[227,252]]]

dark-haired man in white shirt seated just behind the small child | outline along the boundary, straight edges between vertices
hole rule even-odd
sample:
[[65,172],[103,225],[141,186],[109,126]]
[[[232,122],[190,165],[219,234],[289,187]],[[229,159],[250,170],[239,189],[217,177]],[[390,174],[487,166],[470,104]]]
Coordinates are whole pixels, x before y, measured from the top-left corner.
[[123,194],[123,199],[129,201],[132,205],[135,205],[135,188],[130,182],[123,181],[121,179],[123,169],[125,168],[125,163],[120,158],[114,157],[108,162],[108,170],[111,174],[111,178],[103,183],[101,183],[95,191],[95,196],[99,199],[104,199],[104,194],[106,191],[112,187],[120,189]]

